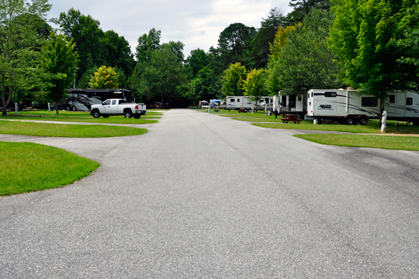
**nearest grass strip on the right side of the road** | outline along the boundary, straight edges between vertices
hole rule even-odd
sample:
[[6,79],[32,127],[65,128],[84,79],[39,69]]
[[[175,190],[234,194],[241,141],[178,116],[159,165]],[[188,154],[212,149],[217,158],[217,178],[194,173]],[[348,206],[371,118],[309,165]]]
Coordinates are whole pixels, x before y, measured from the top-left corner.
[[419,151],[418,136],[378,136],[356,134],[297,134],[294,136],[325,145]]

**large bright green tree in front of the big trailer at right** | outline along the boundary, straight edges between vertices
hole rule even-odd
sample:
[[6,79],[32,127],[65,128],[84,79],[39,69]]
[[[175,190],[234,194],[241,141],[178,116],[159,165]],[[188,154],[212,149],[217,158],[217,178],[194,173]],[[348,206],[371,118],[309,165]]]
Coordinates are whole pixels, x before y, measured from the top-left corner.
[[[406,56],[418,57],[418,46],[409,41],[409,9],[415,0],[332,0],[336,13],[330,31],[330,48],[344,63],[347,85],[360,94],[381,99],[381,110],[387,92],[409,90],[419,82],[418,67],[402,63]],[[413,23],[413,22],[411,22]],[[414,24],[414,23],[413,23]]]

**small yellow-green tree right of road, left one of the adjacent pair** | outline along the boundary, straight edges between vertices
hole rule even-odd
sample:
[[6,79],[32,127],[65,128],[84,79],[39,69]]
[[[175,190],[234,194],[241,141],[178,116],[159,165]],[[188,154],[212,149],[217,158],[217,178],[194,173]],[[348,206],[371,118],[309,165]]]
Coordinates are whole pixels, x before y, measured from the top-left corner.
[[243,96],[243,83],[247,78],[246,67],[242,66],[240,62],[230,64],[228,69],[224,71],[221,80],[224,96]]

